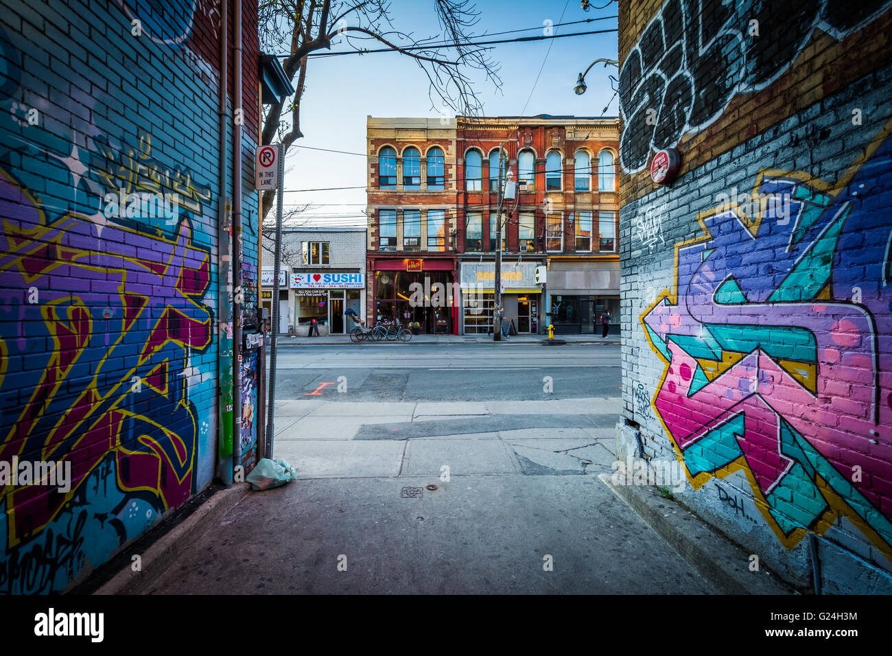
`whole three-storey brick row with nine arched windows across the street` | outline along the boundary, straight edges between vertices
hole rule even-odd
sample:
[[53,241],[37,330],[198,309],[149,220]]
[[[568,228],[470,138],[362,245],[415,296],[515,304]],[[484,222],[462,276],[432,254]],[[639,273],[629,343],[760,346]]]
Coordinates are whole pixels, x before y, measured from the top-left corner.
[[[369,117],[373,318],[491,332],[499,247],[512,331],[593,333],[602,312],[618,318],[618,143],[616,119]],[[518,191],[498,245],[500,144]]]

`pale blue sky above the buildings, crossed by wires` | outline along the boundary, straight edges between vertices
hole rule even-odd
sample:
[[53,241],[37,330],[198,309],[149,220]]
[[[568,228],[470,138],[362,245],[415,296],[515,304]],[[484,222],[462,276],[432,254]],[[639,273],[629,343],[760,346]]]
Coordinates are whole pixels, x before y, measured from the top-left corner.
[[[481,12],[475,35],[511,29],[536,28],[492,38],[542,35],[548,23],[582,21],[601,16],[615,16],[616,3],[604,9],[594,7],[607,0],[595,0],[589,12],[582,11],[579,0],[477,0]],[[439,25],[431,0],[393,0],[391,5],[394,29],[413,32],[415,37],[439,34]],[[563,12],[563,20],[561,14]],[[616,19],[592,21],[552,28],[555,34],[615,29]],[[357,42],[369,43],[372,42]],[[533,82],[549,50],[548,60],[533,90]],[[333,51],[344,46],[334,45]],[[492,87],[483,75],[475,77],[475,87],[488,116],[572,114],[600,116],[610,102],[607,116],[615,116],[617,99],[610,88],[608,74],[616,75],[615,67],[601,64],[586,76],[588,90],[583,95],[573,91],[576,76],[599,57],[616,58],[616,33],[546,39],[534,42],[500,44],[490,51],[500,64],[501,91]],[[533,92],[531,96],[531,91]],[[529,104],[527,99],[529,98]],[[526,109],[524,111],[524,105]],[[448,115],[454,112],[445,110]],[[325,153],[300,148],[298,145],[363,153],[366,139],[366,116],[429,116],[441,114],[432,108],[428,82],[417,63],[396,53],[321,57],[310,60],[307,68],[306,92],[301,104],[301,131],[304,137],[289,150],[285,166],[285,189],[320,187],[363,187],[365,158],[351,154]],[[285,194],[285,205],[314,203],[308,212],[326,216],[330,225],[365,225],[361,211],[365,209],[363,188],[328,192]],[[314,220],[314,224],[321,221]]]

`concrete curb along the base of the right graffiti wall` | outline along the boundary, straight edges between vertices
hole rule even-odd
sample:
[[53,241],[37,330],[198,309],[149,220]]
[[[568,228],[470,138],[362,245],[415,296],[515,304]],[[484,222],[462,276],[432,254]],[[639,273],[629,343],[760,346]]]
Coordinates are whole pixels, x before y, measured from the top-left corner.
[[761,565],[750,571],[746,552],[678,502],[660,496],[656,487],[615,486],[610,474],[598,477],[720,594],[795,593]]

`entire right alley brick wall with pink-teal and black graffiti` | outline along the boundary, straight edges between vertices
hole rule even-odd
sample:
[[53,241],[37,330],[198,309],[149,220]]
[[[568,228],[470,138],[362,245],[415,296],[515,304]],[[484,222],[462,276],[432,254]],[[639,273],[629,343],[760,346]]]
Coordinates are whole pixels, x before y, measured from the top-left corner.
[[[791,583],[892,590],[892,3],[621,0],[624,422]],[[658,187],[652,154],[677,147]]]

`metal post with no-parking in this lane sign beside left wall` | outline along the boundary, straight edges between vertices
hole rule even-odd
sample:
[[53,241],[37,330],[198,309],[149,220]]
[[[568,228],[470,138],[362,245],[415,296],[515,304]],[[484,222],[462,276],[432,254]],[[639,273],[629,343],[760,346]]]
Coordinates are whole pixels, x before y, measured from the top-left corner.
[[258,191],[275,191],[277,194],[276,207],[276,252],[273,264],[273,308],[269,317],[269,384],[268,384],[268,408],[267,408],[267,439],[264,457],[273,457],[273,433],[274,411],[276,403],[276,343],[278,337],[278,297],[281,271],[282,251],[282,193],[285,179],[285,157],[281,144],[260,145],[254,154],[254,187]]

